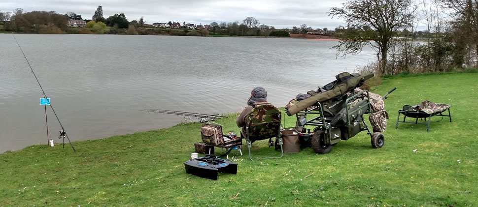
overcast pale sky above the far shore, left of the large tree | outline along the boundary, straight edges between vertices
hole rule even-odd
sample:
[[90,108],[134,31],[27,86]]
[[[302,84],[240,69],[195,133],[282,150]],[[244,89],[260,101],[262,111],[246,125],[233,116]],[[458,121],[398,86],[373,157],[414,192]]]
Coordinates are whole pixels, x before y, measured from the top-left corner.
[[148,24],[155,22],[183,22],[210,24],[211,22],[242,22],[255,17],[261,24],[275,28],[292,28],[306,24],[314,29],[329,30],[344,23],[327,15],[330,7],[340,7],[345,0],[0,0],[1,11],[23,8],[28,11],[69,11],[91,19],[98,5],[103,17],[124,13],[128,21],[141,16]]

